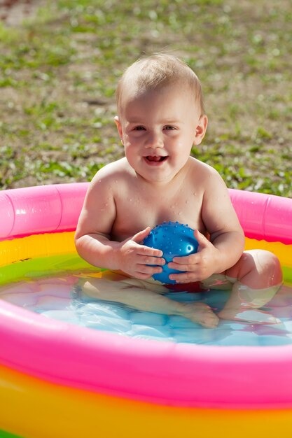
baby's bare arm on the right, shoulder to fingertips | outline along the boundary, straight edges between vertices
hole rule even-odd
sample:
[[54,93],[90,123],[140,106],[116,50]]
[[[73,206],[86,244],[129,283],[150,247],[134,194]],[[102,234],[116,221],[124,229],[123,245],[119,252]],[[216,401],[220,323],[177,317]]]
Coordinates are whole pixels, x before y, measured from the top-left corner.
[[244,250],[244,233],[225,183],[214,169],[209,171],[211,174],[204,182],[201,216],[210,240],[196,230],[198,252],[186,257],[174,257],[173,262],[169,263],[169,268],[186,271],[185,274],[169,276],[179,283],[202,281],[211,274],[220,274],[232,267]]

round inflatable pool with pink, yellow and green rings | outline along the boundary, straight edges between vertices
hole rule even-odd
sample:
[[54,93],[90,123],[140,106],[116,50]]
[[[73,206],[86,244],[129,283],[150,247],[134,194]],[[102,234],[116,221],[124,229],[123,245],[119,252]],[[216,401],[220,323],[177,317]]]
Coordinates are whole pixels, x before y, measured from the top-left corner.
[[[87,183],[0,192],[0,283],[92,268],[74,247]],[[292,284],[292,199],[230,190],[246,248]],[[98,271],[98,269],[95,269]],[[292,433],[292,344],[131,339],[0,300],[0,437],[233,437]],[[209,330],[209,329],[207,329]]]

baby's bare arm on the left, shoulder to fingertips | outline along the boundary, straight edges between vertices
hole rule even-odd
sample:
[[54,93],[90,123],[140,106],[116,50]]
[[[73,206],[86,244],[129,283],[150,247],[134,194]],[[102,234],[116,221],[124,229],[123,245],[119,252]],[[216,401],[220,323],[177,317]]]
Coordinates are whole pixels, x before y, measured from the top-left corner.
[[[93,178],[85,197],[75,234],[78,254],[96,267],[121,270],[136,278],[150,278],[162,271],[165,264],[162,251],[139,244],[151,231],[150,227],[124,241],[111,240],[111,228],[116,219],[114,190],[107,169]],[[149,265],[156,266],[149,266]]]

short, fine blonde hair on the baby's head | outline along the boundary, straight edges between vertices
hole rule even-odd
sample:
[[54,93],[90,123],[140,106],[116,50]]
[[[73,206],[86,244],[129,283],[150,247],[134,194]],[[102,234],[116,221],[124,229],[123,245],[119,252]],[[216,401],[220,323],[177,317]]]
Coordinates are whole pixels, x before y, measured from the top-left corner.
[[118,112],[120,112],[124,87],[134,84],[138,93],[143,94],[173,83],[181,83],[190,88],[203,115],[202,87],[197,75],[178,57],[162,53],[138,59],[125,70],[116,90]]

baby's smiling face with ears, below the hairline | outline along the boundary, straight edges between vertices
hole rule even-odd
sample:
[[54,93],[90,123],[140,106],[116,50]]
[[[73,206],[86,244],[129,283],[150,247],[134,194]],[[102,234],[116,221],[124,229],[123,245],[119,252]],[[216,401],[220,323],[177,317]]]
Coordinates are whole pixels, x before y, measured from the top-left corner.
[[127,160],[137,174],[146,181],[168,183],[188,161],[193,143],[202,141],[200,120],[190,90],[174,84],[144,94],[124,90],[116,122]]

